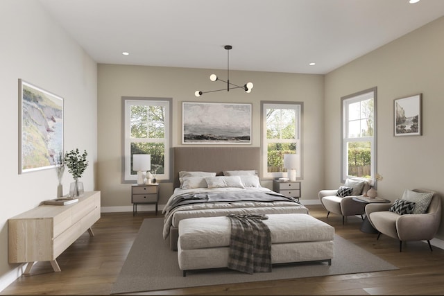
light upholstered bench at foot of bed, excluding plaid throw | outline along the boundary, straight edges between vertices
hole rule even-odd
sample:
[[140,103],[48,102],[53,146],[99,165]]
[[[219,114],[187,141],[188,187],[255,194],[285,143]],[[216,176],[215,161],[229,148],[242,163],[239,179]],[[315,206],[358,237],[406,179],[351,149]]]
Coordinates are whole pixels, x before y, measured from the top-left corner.
[[[271,232],[271,262],[327,261],[334,256],[334,227],[307,214],[270,214],[263,222]],[[179,223],[178,263],[187,270],[226,268],[230,219],[202,217]]]

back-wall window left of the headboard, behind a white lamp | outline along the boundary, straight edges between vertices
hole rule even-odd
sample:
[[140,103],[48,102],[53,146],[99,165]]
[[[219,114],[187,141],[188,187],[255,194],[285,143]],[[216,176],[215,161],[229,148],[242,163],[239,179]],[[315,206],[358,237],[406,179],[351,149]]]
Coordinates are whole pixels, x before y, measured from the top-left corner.
[[122,97],[123,183],[137,180],[133,154],[151,155],[151,173],[170,180],[171,98]]

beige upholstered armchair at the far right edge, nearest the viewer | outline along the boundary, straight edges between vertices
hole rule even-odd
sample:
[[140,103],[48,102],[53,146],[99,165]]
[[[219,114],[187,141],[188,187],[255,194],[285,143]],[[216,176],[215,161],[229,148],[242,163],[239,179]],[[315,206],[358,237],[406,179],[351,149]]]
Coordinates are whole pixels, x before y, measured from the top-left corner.
[[427,241],[430,250],[433,251],[430,240],[434,238],[441,223],[441,197],[434,193],[434,191],[413,189],[413,191],[404,191],[402,199],[405,199],[406,193],[410,193],[410,196],[413,196],[413,198],[416,198],[414,196],[415,193],[419,193],[417,196],[420,198],[424,198],[427,193],[432,193],[428,207],[421,200],[409,199],[409,196],[407,196],[407,200],[411,202],[416,201],[414,207],[419,207],[422,204],[425,211],[424,214],[415,213],[414,207],[412,214],[404,214],[402,212],[398,214],[391,207],[392,204],[367,204],[366,215],[368,220],[379,232],[377,239],[379,239],[381,234],[399,239],[400,252],[402,252],[403,241]]

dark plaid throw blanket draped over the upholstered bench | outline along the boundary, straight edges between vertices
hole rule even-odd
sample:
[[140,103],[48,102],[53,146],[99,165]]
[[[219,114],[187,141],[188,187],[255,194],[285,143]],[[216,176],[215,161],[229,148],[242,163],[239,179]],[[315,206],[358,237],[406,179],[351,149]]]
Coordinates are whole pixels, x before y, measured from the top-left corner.
[[230,214],[228,268],[253,274],[271,272],[271,234],[264,214]]

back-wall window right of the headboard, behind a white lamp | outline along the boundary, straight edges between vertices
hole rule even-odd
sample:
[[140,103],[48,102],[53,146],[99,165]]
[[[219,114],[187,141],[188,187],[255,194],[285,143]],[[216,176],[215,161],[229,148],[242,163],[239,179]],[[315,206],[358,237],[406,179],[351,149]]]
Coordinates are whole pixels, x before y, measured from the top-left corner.
[[[284,154],[301,154],[303,103],[261,102],[263,177],[282,177]],[[300,157],[302,159],[302,157]],[[301,163],[296,177],[302,177]]]

